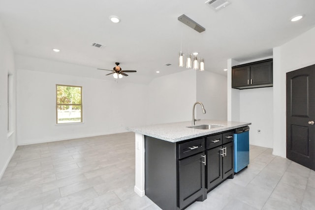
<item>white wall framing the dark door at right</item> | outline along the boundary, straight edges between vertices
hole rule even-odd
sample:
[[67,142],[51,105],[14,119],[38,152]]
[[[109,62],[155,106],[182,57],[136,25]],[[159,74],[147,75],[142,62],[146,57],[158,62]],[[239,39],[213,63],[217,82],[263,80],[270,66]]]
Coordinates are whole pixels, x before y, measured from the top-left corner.
[[274,150],[286,157],[286,72],[315,64],[315,28],[273,50],[274,56]]

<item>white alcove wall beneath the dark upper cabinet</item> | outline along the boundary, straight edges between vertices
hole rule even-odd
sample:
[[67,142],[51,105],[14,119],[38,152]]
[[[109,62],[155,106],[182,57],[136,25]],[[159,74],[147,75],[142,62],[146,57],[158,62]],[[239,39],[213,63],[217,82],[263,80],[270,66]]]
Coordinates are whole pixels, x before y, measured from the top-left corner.
[[[240,121],[250,125],[250,144],[273,148],[273,88],[240,91]],[[260,130],[258,134],[257,130]]]

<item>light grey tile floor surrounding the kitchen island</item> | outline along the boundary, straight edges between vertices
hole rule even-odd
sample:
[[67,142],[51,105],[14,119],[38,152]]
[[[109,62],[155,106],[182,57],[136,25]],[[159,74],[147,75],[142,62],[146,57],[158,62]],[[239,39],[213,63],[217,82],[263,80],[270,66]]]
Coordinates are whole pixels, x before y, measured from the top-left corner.
[[[160,210],[134,187],[134,134],[19,146],[0,210]],[[249,167],[187,210],[315,210],[315,172],[251,146]]]

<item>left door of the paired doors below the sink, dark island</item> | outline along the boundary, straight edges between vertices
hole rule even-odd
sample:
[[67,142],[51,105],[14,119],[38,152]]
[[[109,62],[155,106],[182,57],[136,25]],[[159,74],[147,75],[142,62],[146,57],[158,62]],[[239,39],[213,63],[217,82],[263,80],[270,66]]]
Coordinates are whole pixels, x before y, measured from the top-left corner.
[[210,190],[222,181],[222,147],[207,150],[207,189]]

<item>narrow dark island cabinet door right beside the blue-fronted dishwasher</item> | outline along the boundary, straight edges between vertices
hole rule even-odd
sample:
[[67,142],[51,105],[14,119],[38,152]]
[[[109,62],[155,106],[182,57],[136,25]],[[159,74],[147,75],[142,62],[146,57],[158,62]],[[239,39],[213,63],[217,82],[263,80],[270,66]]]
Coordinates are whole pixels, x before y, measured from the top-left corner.
[[234,157],[233,157],[233,142],[225,144],[222,146],[224,151],[223,161],[222,161],[222,175],[223,179],[234,175]]

